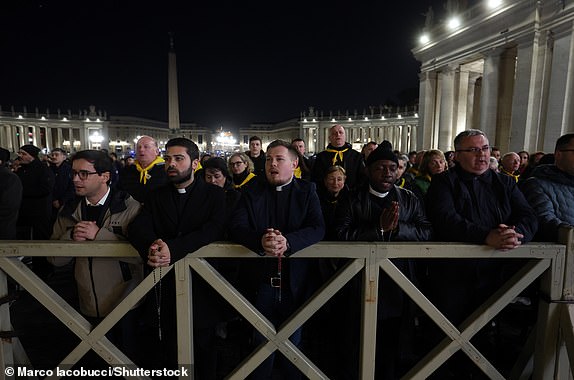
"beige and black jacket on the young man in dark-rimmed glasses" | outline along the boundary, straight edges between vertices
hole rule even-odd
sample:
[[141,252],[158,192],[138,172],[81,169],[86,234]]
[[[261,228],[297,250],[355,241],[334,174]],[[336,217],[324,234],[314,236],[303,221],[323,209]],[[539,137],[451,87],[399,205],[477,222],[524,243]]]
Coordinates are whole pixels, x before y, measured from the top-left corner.
[[[109,197],[109,208],[95,240],[125,240],[128,224],[138,214],[141,205],[125,191],[112,189]],[[85,202],[85,198],[76,197],[61,209],[54,224],[52,240],[72,239],[72,228],[82,220],[81,202]],[[62,266],[72,259],[51,257],[49,261],[56,266]],[[102,318],[143,280],[143,263],[140,257],[120,260],[107,257],[77,257],[74,275],[78,287],[80,311],[88,317]]]

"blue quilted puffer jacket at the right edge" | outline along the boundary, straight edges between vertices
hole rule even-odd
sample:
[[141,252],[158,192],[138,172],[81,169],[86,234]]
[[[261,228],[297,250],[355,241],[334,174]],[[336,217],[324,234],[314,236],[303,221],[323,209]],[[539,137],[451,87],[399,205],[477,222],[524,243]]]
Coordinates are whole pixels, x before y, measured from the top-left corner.
[[560,226],[574,225],[574,176],[556,165],[540,165],[521,190],[538,216],[537,240],[555,242]]

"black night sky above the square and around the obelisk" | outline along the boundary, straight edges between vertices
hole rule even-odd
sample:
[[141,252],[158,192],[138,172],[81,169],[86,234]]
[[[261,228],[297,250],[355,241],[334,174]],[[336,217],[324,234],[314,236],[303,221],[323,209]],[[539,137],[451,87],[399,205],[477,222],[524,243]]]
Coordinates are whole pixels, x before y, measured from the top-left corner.
[[3,0],[0,105],[167,121],[170,31],[182,122],[234,129],[309,106],[412,104],[411,49],[443,2]]

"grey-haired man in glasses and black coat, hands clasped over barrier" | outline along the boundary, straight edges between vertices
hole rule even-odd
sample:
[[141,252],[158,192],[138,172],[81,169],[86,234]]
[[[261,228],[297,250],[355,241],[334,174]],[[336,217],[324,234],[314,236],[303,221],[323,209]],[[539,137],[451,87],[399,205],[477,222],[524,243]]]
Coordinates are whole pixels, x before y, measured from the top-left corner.
[[[425,202],[436,240],[497,250],[528,243],[536,232],[536,215],[516,181],[489,168],[484,132],[459,133],[454,148],[455,167],[433,177]],[[432,260],[429,267],[433,301],[455,326],[502,285],[506,268],[500,259]]]

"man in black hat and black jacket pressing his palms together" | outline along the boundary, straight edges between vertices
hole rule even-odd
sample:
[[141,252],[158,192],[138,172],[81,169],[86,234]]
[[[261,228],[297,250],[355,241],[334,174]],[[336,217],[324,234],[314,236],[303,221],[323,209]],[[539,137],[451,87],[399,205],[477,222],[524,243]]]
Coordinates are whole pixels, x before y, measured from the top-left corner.
[[[380,145],[369,155],[368,186],[351,195],[350,201],[343,203],[336,212],[335,225],[340,240],[389,242],[427,241],[431,238],[431,225],[420,200],[410,190],[395,184],[399,177],[398,165],[397,156],[384,145]],[[392,261],[405,276],[414,279],[412,260]],[[357,290],[360,289],[358,284],[354,285]],[[354,297],[359,298],[358,291]],[[345,303],[344,307],[348,309],[348,300]],[[354,310],[356,316],[358,309],[357,304]],[[377,379],[395,379],[398,375],[395,373],[400,353],[397,347],[406,347],[406,342],[400,342],[399,333],[404,332],[404,328],[414,326],[413,316],[407,313],[408,310],[408,301],[404,299],[401,289],[387,275],[383,275],[379,281],[377,311]],[[405,321],[410,324],[404,323]],[[340,325],[359,326],[359,321],[342,321]],[[358,331],[354,332],[358,334]],[[349,363],[350,359],[346,359],[346,355],[341,355],[337,362]],[[357,363],[353,363],[353,366],[356,371]],[[345,368],[342,370],[344,372]],[[356,373],[347,376],[355,378]]]

